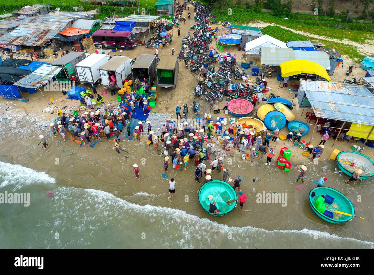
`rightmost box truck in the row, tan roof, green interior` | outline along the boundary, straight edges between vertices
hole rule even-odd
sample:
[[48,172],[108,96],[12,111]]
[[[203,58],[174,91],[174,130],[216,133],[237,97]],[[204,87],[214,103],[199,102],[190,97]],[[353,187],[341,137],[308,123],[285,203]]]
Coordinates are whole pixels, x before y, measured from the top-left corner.
[[157,64],[157,86],[163,88],[177,87],[179,63],[177,55],[169,55]]

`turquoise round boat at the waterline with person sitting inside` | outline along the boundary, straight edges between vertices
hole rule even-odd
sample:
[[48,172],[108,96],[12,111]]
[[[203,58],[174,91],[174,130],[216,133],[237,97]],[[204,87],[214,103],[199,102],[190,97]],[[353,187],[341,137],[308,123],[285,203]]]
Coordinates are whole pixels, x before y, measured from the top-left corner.
[[[213,196],[211,201],[209,201],[209,195]],[[219,210],[221,214],[213,215],[212,213],[209,213],[213,216],[227,215],[235,208],[237,201],[234,201],[229,205],[227,205],[226,202],[236,198],[237,195],[233,187],[221,180],[209,181],[208,183],[203,184],[199,190],[199,202],[206,212],[209,213],[209,205],[212,201],[217,202],[217,210]]]

